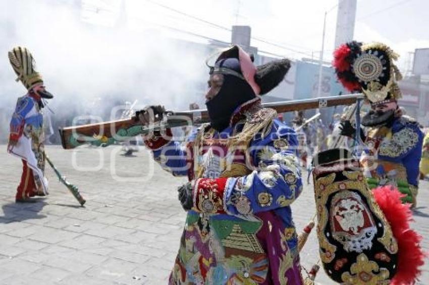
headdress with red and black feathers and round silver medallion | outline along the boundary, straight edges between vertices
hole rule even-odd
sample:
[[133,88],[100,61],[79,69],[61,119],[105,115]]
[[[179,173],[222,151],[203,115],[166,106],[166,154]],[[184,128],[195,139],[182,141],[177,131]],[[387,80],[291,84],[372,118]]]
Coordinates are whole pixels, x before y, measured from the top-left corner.
[[362,91],[371,103],[401,98],[397,81],[402,79],[393,63],[398,54],[383,43],[352,41],[334,51],[333,66],[338,80],[350,92]]

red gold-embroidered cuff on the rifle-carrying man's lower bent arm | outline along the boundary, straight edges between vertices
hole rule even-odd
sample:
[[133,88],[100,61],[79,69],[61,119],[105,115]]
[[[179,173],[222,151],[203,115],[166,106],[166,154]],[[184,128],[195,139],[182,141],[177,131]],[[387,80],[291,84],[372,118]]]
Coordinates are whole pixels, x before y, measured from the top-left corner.
[[228,178],[200,178],[195,181],[194,210],[204,213],[225,213],[224,191]]

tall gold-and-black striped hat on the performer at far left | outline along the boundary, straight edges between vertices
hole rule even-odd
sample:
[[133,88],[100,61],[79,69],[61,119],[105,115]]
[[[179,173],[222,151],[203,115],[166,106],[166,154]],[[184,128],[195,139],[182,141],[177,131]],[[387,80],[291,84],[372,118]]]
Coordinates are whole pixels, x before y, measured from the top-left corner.
[[14,47],[8,52],[9,61],[18,78],[27,90],[37,84],[43,84],[41,75],[35,70],[34,58],[31,52],[22,46]]

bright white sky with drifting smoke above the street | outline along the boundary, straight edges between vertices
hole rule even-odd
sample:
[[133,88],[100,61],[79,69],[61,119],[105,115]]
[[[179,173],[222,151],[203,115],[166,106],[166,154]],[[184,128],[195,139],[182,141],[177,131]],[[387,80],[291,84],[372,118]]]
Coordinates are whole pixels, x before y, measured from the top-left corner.
[[[106,96],[182,110],[202,101],[189,86],[204,84],[207,70],[199,50],[172,39],[230,42],[232,25],[249,25],[251,45],[260,52],[317,58],[328,11],[324,59],[330,61],[337,5],[338,0],[0,0],[0,108],[12,108],[25,93],[7,59],[15,45],[33,52],[48,89],[58,94],[51,104],[57,112],[69,105],[94,112]],[[358,0],[354,38],[390,45],[401,55],[404,72],[408,52],[429,47],[428,8],[424,0]]]

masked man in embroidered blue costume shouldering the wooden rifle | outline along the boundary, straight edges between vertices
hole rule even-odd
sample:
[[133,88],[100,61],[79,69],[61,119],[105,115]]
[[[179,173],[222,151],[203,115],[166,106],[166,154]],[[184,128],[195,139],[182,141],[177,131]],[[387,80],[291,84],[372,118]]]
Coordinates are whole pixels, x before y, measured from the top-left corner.
[[222,52],[210,66],[210,124],[185,149],[146,140],[156,161],[190,180],[179,188],[188,214],[170,284],[302,283],[290,208],[302,190],[297,139],[259,97],[289,67],[286,59],[256,67],[238,46]]

